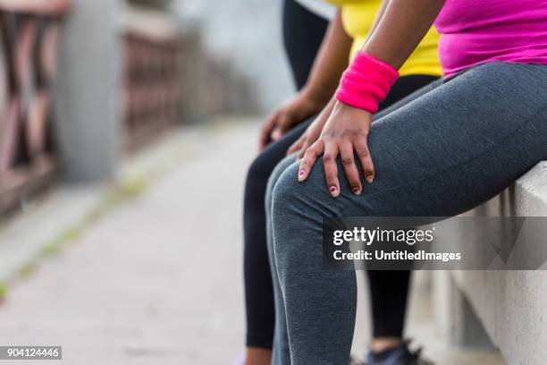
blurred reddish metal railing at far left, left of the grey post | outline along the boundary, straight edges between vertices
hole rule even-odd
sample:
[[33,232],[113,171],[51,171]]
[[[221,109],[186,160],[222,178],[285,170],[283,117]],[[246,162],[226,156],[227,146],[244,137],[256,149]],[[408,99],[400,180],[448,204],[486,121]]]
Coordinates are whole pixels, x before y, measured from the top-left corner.
[[0,0],[0,213],[55,172],[51,84],[69,7],[68,0]]

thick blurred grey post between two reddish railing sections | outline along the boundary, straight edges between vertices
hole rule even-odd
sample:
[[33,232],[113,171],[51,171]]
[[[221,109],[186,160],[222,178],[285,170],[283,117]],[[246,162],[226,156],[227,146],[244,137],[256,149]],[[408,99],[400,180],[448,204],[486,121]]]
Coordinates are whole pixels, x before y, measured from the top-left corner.
[[122,149],[121,0],[80,0],[63,24],[55,85],[56,140],[66,177],[114,177]]

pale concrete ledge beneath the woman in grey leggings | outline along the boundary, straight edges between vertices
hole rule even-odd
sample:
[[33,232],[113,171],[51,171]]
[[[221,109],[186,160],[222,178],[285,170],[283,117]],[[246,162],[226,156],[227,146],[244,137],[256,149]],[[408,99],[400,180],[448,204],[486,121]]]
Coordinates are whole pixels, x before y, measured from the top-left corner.
[[[547,216],[547,162],[468,214]],[[547,363],[547,271],[438,272],[434,282],[437,323],[452,344],[487,338],[509,364]]]

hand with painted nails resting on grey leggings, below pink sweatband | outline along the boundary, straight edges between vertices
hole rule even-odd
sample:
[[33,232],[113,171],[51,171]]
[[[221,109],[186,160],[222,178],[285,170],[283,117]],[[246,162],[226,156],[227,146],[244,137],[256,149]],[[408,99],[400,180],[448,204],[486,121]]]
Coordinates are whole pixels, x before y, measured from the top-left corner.
[[371,123],[372,115],[370,113],[336,102],[321,136],[306,149],[300,162],[299,181],[307,179],[317,157],[323,155],[324,177],[327,187],[331,195],[337,197],[340,195],[340,183],[336,157],[340,155],[351,191],[354,194],[360,194],[363,187],[354,156],[357,155],[358,162],[363,167],[366,182],[372,183],[374,165],[367,145]]

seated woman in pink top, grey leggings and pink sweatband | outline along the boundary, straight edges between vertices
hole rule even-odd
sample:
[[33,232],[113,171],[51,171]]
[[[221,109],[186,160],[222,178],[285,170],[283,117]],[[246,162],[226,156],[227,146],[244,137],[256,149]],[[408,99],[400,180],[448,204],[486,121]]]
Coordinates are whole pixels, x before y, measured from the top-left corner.
[[[383,2],[332,112],[291,149],[303,158],[284,159],[268,183],[268,244],[286,320],[274,364],[349,361],[356,277],[322,269],[324,216],[455,216],[547,158],[545,19],[545,0]],[[373,122],[433,21],[445,77]]]

